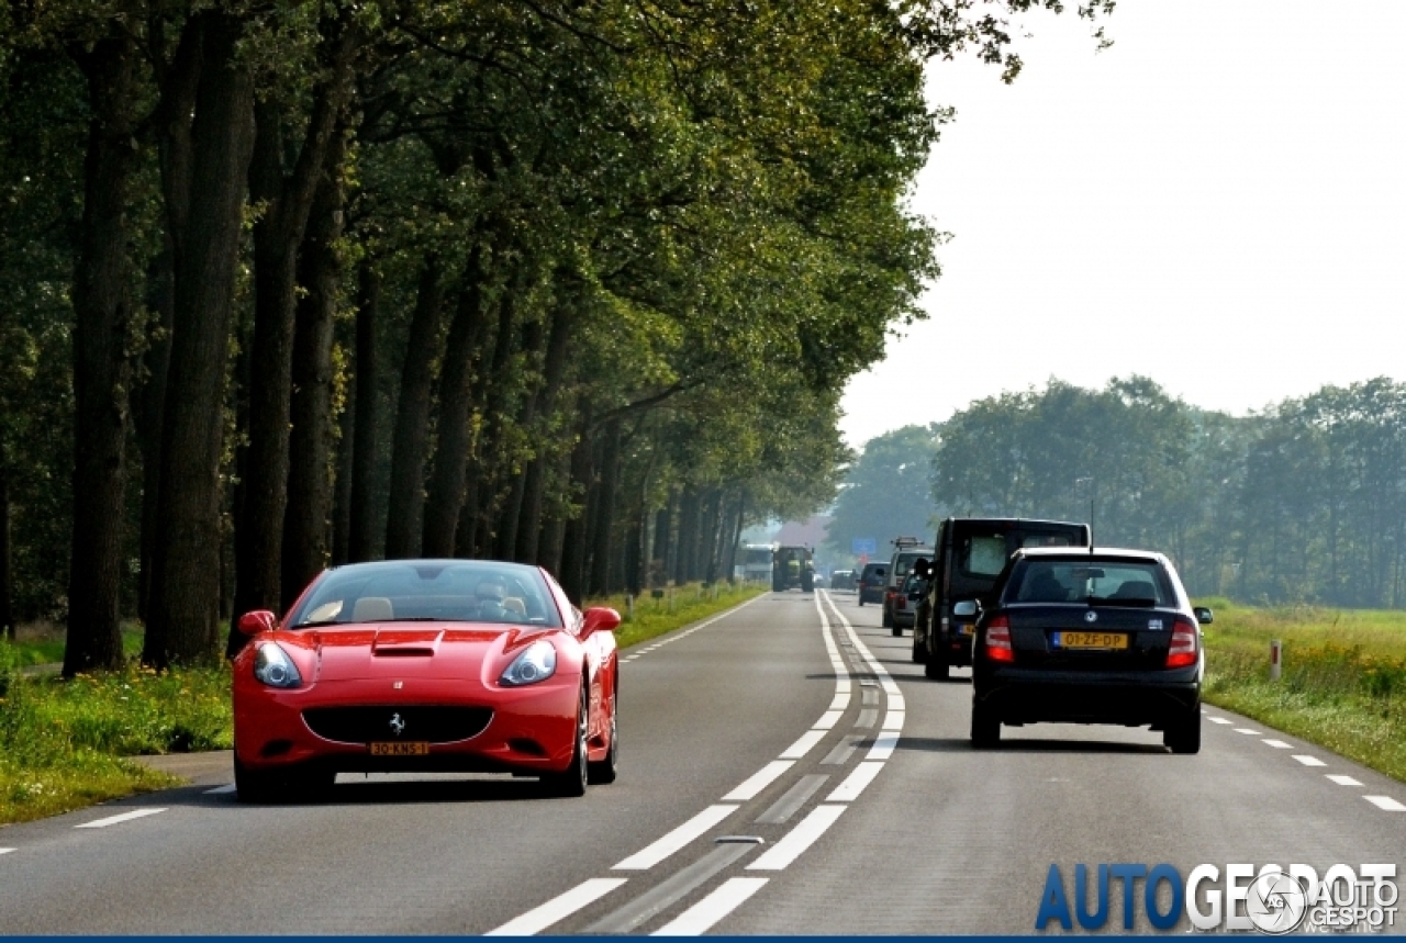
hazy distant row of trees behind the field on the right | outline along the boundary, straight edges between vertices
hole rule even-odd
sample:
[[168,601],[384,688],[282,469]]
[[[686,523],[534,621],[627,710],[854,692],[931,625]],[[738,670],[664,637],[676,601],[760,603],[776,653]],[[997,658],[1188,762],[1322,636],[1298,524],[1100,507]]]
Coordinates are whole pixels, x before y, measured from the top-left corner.
[[[1167,552],[1192,593],[1406,606],[1406,384],[1232,417],[1146,378],[1054,381],[890,433],[856,468],[875,444],[925,461],[935,516],[1092,520],[1097,542]],[[865,485],[842,489],[837,521],[879,493]]]

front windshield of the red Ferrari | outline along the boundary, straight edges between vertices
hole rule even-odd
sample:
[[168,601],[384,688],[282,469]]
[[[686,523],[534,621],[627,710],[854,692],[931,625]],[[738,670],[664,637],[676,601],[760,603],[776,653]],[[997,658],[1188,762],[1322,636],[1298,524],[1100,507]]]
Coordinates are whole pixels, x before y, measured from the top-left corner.
[[288,627],[402,621],[561,627],[541,573],[531,566],[479,561],[329,571],[292,613]]

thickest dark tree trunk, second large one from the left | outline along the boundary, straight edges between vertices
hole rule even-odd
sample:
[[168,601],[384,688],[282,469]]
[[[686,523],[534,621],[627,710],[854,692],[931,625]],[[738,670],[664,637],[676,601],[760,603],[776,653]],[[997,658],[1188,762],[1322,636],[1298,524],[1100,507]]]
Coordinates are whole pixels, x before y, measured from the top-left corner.
[[242,32],[240,20],[218,10],[193,17],[163,89],[176,308],[142,646],[142,661],[155,668],[218,651],[225,364],[253,150],[253,82],[236,52]]

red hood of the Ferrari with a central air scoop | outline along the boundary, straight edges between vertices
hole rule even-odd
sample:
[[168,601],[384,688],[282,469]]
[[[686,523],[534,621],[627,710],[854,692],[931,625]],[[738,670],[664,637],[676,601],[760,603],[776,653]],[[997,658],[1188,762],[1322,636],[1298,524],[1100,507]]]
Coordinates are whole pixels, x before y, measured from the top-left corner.
[[[295,635],[314,653],[318,682],[363,679],[496,679],[529,642],[551,630],[520,625],[359,624]],[[283,639],[280,639],[283,641]],[[485,673],[485,662],[488,672]]]

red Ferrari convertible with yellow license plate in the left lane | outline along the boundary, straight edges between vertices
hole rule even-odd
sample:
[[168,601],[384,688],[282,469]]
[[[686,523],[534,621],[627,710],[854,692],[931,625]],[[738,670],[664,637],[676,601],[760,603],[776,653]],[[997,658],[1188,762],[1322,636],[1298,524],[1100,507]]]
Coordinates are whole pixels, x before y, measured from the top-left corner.
[[576,610],[541,568],[474,559],[325,571],[280,623],[246,613],[235,786],[270,801],[350,772],[616,777],[613,609]]

